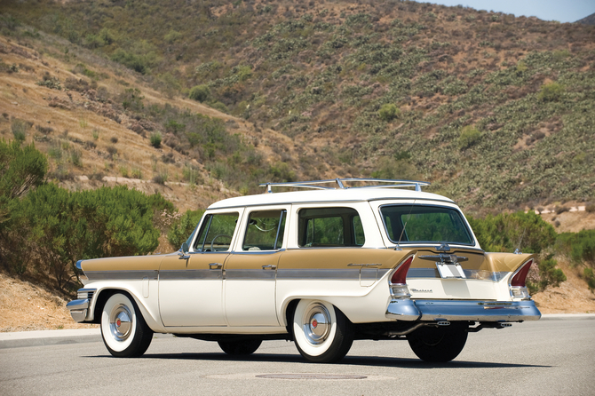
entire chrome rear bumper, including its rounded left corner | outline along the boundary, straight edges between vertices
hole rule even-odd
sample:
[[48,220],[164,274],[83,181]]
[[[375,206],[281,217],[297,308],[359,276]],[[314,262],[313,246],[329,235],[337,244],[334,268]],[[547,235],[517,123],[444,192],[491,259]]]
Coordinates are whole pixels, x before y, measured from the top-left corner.
[[[417,314],[416,314],[417,312]],[[537,321],[535,302],[464,300],[392,300],[385,317],[398,321]]]

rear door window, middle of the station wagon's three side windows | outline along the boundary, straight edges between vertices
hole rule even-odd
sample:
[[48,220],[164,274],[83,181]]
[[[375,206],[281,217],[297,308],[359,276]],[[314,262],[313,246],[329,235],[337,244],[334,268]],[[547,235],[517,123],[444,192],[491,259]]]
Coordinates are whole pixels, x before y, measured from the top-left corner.
[[258,210],[250,213],[242,250],[281,249],[286,210]]

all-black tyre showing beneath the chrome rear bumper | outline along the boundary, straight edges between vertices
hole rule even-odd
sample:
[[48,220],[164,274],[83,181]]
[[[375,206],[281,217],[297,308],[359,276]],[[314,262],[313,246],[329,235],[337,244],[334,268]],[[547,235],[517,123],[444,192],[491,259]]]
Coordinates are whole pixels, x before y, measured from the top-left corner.
[[467,342],[466,327],[424,327],[407,336],[409,346],[421,360],[444,363],[456,358]]

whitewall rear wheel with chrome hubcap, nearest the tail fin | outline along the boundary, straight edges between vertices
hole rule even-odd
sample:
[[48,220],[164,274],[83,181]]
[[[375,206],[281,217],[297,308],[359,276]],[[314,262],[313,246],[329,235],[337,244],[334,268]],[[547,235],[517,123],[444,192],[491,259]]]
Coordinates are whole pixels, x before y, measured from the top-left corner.
[[353,344],[353,329],[345,315],[322,301],[301,300],[293,314],[293,337],[306,360],[341,360]]

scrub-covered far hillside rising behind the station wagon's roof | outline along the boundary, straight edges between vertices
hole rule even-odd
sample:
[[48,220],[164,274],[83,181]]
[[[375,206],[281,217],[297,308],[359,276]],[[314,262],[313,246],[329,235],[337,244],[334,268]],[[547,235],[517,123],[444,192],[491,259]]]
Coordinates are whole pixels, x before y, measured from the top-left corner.
[[[594,199],[590,26],[408,1],[41,0],[0,11],[6,37],[68,40],[37,51],[75,69],[70,54],[92,51],[77,77],[98,89],[96,67],[111,60],[171,99],[247,120],[250,140],[124,87],[112,99],[147,139],[159,132],[235,190],[372,175],[432,181],[467,210]],[[290,140],[268,142],[273,131]]]

